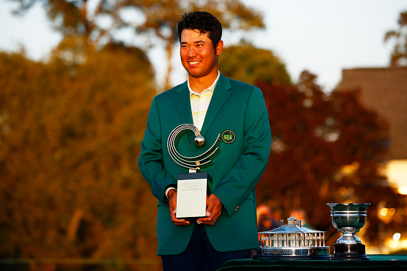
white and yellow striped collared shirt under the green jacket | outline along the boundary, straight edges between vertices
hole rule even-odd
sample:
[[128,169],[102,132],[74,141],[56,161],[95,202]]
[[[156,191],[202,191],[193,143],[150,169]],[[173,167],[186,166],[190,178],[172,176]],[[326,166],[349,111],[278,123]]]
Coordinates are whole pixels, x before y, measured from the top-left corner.
[[201,131],[202,125],[204,125],[204,120],[206,116],[206,112],[208,111],[208,106],[210,103],[210,99],[212,99],[212,95],[214,92],[214,89],[217,86],[218,80],[219,80],[219,73],[218,70],[218,77],[215,79],[215,81],[212,83],[212,86],[209,88],[206,88],[206,90],[203,90],[201,94],[193,91],[190,88],[189,85],[189,78],[188,78],[188,89],[189,89],[189,94],[190,94],[190,109],[193,114],[193,121],[195,127]]

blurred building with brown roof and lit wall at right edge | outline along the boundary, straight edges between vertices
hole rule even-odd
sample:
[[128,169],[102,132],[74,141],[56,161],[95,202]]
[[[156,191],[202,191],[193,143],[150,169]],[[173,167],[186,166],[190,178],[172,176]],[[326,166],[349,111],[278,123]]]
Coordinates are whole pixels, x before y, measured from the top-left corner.
[[[362,105],[378,112],[390,125],[385,173],[399,193],[407,195],[407,67],[343,69],[339,87],[358,88]],[[390,222],[395,211],[384,206],[380,216]],[[395,233],[386,242],[388,250],[406,249],[406,235],[407,231]]]

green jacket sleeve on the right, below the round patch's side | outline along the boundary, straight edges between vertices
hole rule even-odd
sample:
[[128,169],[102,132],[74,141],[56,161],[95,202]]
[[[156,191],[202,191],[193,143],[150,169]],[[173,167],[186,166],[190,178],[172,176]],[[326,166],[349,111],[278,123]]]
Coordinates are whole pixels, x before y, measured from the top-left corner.
[[249,96],[244,121],[245,151],[212,192],[221,200],[229,216],[232,216],[235,208],[254,190],[270,155],[269,115],[259,88],[254,88]]

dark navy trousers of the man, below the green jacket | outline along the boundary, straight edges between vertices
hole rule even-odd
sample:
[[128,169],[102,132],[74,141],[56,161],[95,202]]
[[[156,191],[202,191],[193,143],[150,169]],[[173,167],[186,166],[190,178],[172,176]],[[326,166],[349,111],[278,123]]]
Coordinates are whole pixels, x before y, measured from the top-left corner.
[[183,253],[161,256],[164,271],[214,271],[230,259],[251,257],[250,249],[230,252],[215,250],[206,235],[204,224],[194,224],[193,235]]

